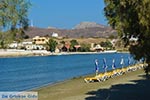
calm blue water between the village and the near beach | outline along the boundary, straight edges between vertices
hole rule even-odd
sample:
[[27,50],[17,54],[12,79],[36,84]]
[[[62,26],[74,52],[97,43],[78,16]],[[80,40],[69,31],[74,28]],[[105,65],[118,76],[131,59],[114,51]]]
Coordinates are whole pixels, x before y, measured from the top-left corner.
[[23,91],[64,81],[95,72],[95,59],[98,59],[103,72],[103,58],[108,70],[112,59],[121,67],[121,56],[126,66],[128,53],[80,54],[42,57],[0,58],[0,91]]

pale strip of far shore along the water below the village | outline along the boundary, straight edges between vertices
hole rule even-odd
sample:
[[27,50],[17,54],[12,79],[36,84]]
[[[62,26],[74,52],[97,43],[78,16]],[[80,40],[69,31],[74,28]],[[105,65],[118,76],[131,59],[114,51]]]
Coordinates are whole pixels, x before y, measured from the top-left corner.
[[[30,57],[30,56],[51,56],[51,55],[74,55],[74,54],[103,54],[103,53],[120,53],[116,50],[104,52],[60,52],[51,53],[46,50],[17,50],[17,49],[0,49],[0,58],[8,57]],[[121,52],[122,53],[122,52]],[[126,53],[126,52],[125,52]]]

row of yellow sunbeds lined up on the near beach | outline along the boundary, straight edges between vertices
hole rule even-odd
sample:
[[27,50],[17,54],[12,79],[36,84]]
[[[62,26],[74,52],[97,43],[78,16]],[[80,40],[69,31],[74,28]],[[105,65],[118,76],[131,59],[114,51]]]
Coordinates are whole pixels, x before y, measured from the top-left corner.
[[147,64],[142,63],[142,64],[135,64],[135,65],[124,67],[124,68],[118,68],[118,69],[114,69],[112,71],[108,71],[108,72],[105,72],[105,73],[100,73],[100,74],[98,74],[94,77],[84,78],[84,81],[86,83],[103,82],[103,81],[108,80],[109,78],[114,78],[114,77],[129,73],[129,72],[132,72],[132,71],[136,71],[138,69],[142,69],[145,66],[147,66]]

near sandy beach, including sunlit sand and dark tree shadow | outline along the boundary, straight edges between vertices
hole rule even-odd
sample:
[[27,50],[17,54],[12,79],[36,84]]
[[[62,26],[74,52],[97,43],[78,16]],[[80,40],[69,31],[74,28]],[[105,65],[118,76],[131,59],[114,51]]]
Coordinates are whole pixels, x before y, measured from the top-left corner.
[[34,91],[38,91],[39,100],[146,100],[149,97],[150,80],[143,69],[100,83],[85,83],[84,77]]

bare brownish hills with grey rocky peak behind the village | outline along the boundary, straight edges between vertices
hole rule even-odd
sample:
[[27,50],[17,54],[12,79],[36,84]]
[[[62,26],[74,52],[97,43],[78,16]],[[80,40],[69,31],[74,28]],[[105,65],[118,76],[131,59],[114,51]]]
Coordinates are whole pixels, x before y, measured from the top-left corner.
[[96,24],[94,22],[82,22],[70,30],[30,27],[26,31],[26,34],[32,38],[34,36],[51,36],[53,32],[58,33],[60,37],[71,38],[108,37],[110,35],[117,35],[115,30],[113,30],[111,27]]

